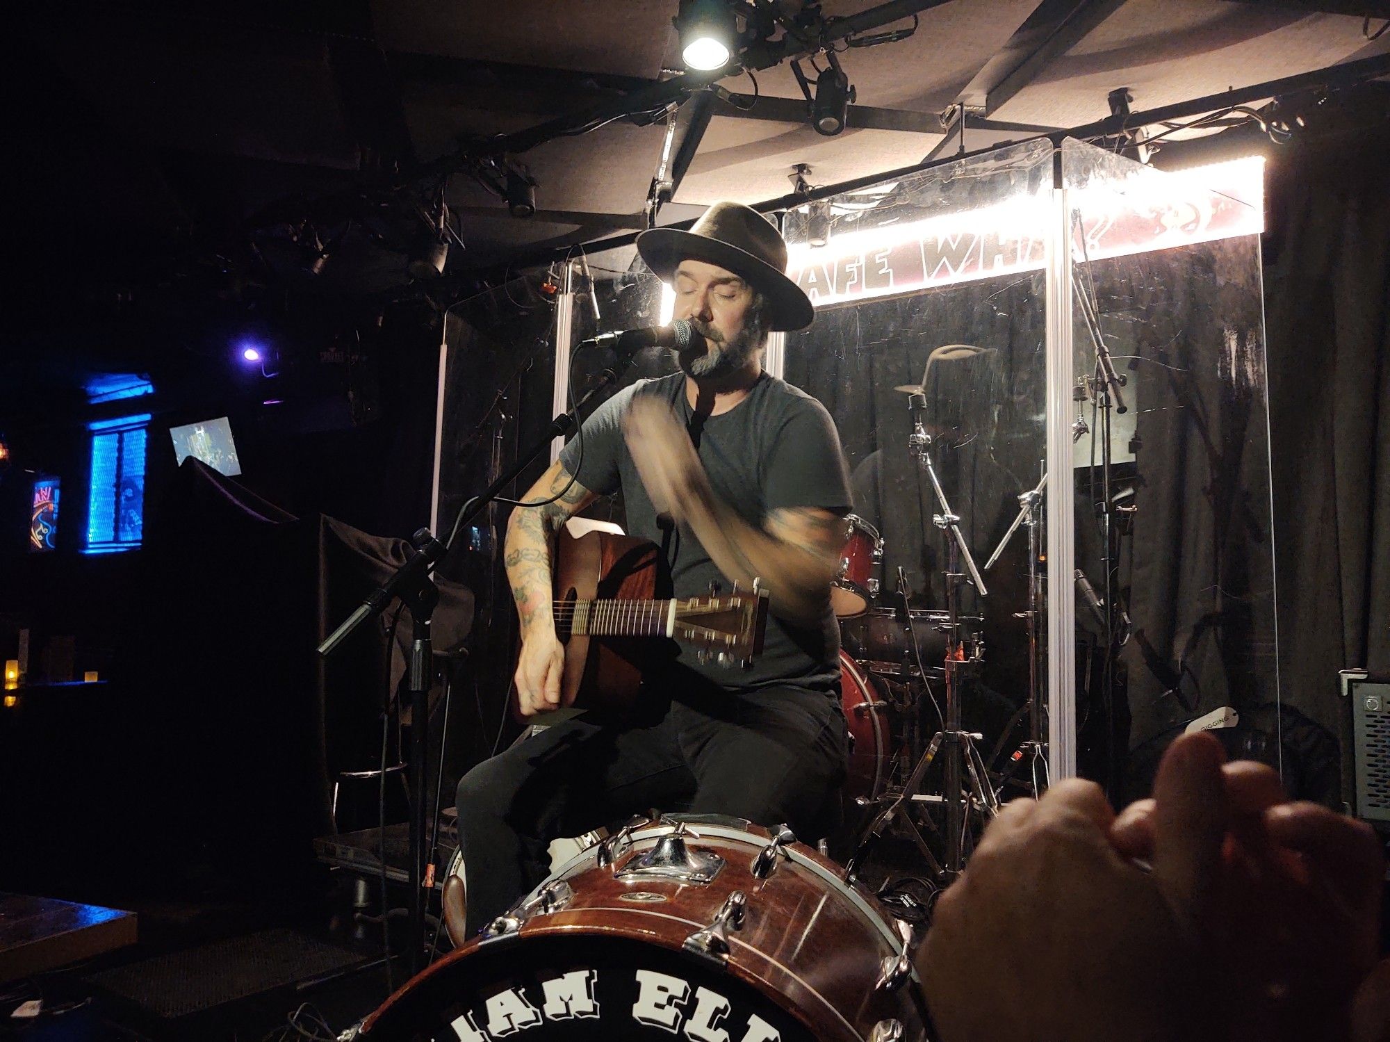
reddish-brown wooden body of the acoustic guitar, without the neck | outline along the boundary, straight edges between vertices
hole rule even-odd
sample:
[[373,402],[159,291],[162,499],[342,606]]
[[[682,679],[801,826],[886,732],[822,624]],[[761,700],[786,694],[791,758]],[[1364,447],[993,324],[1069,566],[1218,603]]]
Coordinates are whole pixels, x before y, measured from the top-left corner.
[[[670,596],[670,581],[656,543],[630,535],[560,529],[555,554],[555,602],[651,600]],[[657,661],[667,642],[631,636],[570,634],[567,613],[556,613],[564,645],[560,706],[627,714],[642,685],[642,671]]]

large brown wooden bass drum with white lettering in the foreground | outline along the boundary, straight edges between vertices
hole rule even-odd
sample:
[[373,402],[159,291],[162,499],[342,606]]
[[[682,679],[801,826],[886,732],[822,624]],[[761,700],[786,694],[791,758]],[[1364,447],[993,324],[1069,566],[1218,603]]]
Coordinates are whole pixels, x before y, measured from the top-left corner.
[[922,1011],[902,938],[833,861],[685,816],[577,856],[359,1038],[920,1042]]

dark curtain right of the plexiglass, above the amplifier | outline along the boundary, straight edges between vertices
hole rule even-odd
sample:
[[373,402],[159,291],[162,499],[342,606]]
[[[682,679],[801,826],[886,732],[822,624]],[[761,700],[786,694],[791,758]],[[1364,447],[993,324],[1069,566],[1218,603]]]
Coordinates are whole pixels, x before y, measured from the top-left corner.
[[[1284,704],[1343,734],[1339,670],[1390,675],[1390,90],[1269,167],[1269,353]],[[1330,125],[1329,125],[1330,124]]]

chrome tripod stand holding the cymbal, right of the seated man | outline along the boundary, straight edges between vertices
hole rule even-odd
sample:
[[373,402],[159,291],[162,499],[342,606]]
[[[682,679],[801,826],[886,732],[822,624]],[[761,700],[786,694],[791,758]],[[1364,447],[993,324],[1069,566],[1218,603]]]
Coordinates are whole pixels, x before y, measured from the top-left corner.
[[[910,816],[903,814],[902,820],[908,824],[913,841],[926,854],[931,870],[938,877],[948,879],[955,878],[965,868],[965,824],[969,814],[983,811],[992,816],[998,811],[998,799],[994,791],[986,785],[986,778],[981,777],[981,772],[976,767],[977,763],[983,764],[980,752],[974,745],[976,739],[981,736],[960,727],[960,686],[963,681],[979,670],[983,653],[979,640],[976,640],[973,642],[974,646],[970,654],[966,654],[966,640],[962,634],[963,624],[960,621],[960,584],[966,579],[972,581],[981,597],[988,596],[988,590],[984,586],[984,579],[980,577],[980,570],[974,564],[974,557],[970,554],[970,547],[966,545],[965,535],[960,532],[960,517],[951,508],[947,493],[941,488],[941,481],[937,478],[937,470],[931,461],[933,438],[927,433],[923,418],[926,404],[927,399],[922,392],[908,396],[908,408],[912,411],[913,420],[912,436],[908,439],[908,445],[917,458],[917,465],[931,482],[931,492],[935,496],[940,510],[940,513],[933,514],[931,521],[942,535],[948,536],[944,575],[947,589],[947,704],[941,720],[941,729],[931,738],[931,743],[917,760],[902,791],[892,797],[888,806],[865,829],[849,863],[845,866],[847,881],[853,878],[858,861],[863,857],[870,839],[880,836],[888,821],[898,816],[906,803],[940,802],[945,806],[944,861],[938,861],[930,854],[920,831],[910,821]],[[962,563],[965,564],[965,571],[960,571]],[[926,681],[924,677],[923,681]],[[938,752],[944,757],[944,791],[940,797],[924,796],[919,792],[919,788]],[[970,779],[969,792],[963,785],[962,767]]]

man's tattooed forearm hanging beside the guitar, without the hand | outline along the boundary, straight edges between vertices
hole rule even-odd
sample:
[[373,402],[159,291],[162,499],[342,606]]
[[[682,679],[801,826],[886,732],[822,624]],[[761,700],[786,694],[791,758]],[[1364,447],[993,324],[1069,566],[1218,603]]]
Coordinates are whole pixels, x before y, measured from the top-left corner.
[[555,625],[550,613],[555,534],[598,496],[577,481],[571,485],[569,471],[556,460],[521,497],[523,502],[550,499],[566,485],[569,489],[553,503],[516,507],[507,521],[503,561],[507,567],[507,582],[512,584],[512,596],[517,602],[523,639],[535,627]]

